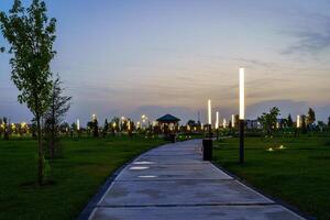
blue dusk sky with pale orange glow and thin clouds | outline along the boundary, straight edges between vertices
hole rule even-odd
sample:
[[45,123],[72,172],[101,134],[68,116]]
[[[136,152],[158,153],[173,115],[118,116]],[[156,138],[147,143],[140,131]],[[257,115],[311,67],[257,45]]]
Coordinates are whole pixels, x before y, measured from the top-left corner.
[[[30,0],[23,1],[25,6]],[[0,0],[8,11],[12,0]],[[68,122],[164,113],[206,119],[239,111],[245,67],[246,118],[273,106],[282,116],[330,116],[329,0],[46,0],[57,19],[52,63],[73,96]],[[7,45],[0,36],[0,45]],[[0,116],[30,121],[0,54]]]

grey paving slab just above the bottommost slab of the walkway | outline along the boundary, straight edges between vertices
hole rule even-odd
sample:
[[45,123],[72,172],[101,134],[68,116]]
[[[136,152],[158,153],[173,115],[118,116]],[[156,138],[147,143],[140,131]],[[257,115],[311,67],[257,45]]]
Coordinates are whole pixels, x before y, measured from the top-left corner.
[[270,204],[234,180],[116,182],[99,206]]

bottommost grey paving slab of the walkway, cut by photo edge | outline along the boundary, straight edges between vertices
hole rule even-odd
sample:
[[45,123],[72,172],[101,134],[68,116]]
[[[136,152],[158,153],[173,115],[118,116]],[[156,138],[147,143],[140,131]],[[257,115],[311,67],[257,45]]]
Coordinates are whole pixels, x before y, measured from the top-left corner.
[[98,220],[301,220],[282,206],[99,208]]

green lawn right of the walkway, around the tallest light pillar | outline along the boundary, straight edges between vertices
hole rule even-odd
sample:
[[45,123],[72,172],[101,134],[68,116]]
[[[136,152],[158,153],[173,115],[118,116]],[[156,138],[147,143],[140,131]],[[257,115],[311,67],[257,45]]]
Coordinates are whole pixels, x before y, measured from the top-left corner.
[[223,168],[301,212],[330,219],[330,138],[246,138],[243,166],[238,164],[238,139],[215,146],[215,161]]

